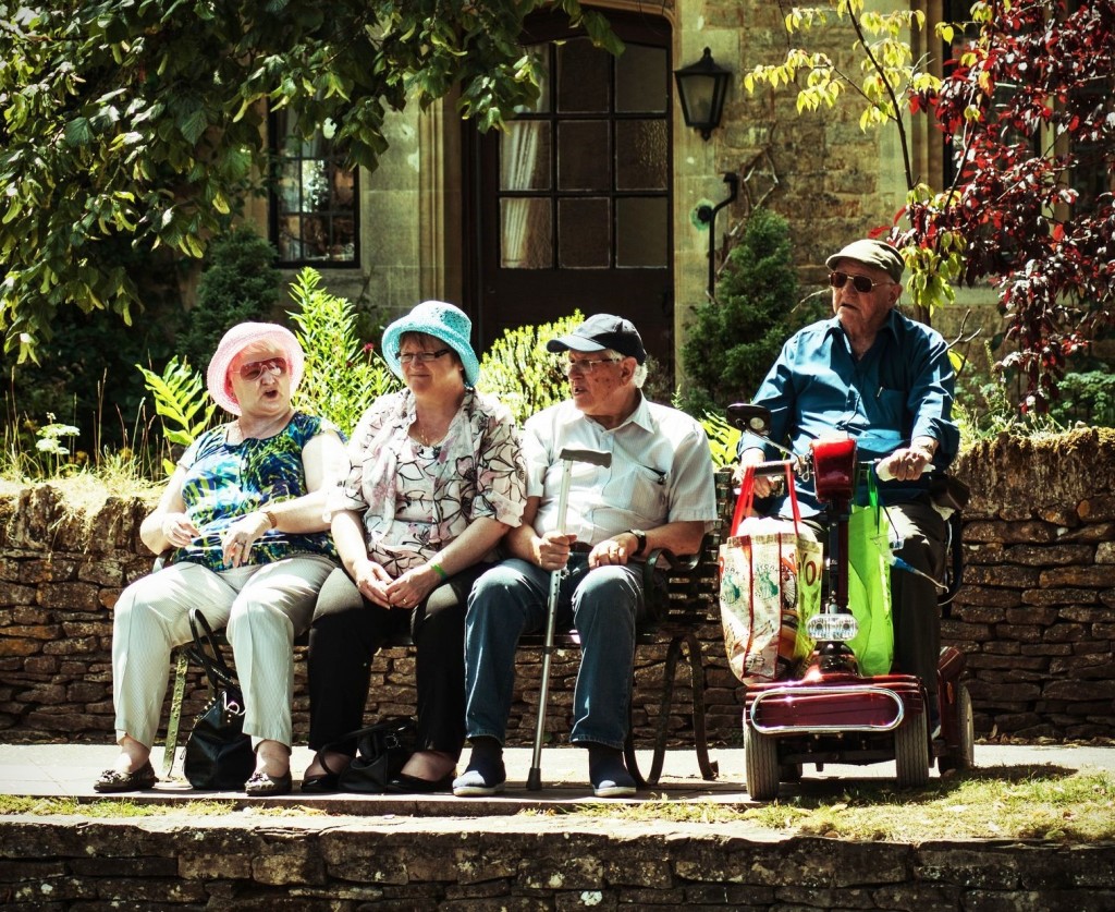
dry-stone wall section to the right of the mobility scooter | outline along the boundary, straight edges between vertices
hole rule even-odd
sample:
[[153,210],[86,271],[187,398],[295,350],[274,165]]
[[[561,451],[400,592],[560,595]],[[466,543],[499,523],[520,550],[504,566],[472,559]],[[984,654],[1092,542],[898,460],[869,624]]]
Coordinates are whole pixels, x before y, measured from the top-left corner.
[[1115,431],[1004,436],[957,474],[967,568],[942,633],[968,653],[977,730],[1115,736]]

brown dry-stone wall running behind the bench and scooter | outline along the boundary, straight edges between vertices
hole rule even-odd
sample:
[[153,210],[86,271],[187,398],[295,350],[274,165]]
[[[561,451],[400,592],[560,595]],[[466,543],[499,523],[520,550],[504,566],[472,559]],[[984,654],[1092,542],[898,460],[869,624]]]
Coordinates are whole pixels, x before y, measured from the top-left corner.
[[[968,654],[968,685],[983,736],[1115,737],[1115,432],[1045,442],[1002,439],[966,453],[957,474],[972,488],[966,513],[966,586],[943,622],[946,643]],[[0,499],[0,739],[113,738],[112,606],[151,557],[138,525],[151,508],[109,499],[70,511],[49,486]],[[718,625],[700,631],[707,722],[714,743],[739,739],[741,689]],[[633,721],[641,743],[659,719],[665,645],[642,646]],[[549,728],[569,731],[578,656],[559,654]],[[295,738],[308,731],[304,654],[297,655]],[[508,737],[526,745],[537,705],[539,655],[524,652]],[[669,720],[675,742],[691,729],[688,673],[678,670]],[[186,718],[204,702],[195,674]],[[376,659],[368,717],[409,712],[414,660]],[[164,713],[165,719],[165,713]]]

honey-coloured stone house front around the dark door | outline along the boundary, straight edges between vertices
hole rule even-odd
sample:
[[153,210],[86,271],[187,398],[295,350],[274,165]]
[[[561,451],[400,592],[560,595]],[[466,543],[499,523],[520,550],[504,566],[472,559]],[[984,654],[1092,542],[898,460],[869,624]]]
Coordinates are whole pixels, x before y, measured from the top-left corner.
[[[866,6],[882,11],[892,7],[879,0]],[[931,30],[942,15],[941,0],[914,0],[913,6],[927,12]],[[631,59],[639,50],[655,51],[640,77],[643,83],[649,76],[661,80],[661,95],[646,104],[655,108],[655,118],[647,119],[646,134],[639,134],[642,140],[628,151],[620,131],[630,123],[624,118],[632,115],[617,109],[599,115],[612,117],[611,140],[599,148],[592,143],[571,143],[565,150],[558,132],[569,124],[560,121],[563,103],[555,100],[552,113],[559,119],[543,124],[552,126],[555,134],[550,150],[556,162],[555,195],[542,202],[552,202],[555,211],[570,204],[568,211],[562,209],[561,221],[554,221],[554,238],[599,237],[607,247],[607,232],[593,232],[602,231],[598,218],[610,219],[617,236],[626,230],[622,207],[631,191],[626,189],[623,175],[613,174],[618,183],[608,190],[595,186],[595,176],[586,176],[582,186],[561,176],[560,156],[568,151],[572,161],[575,153],[579,169],[595,174],[599,167],[603,174],[609,155],[630,153],[640,164],[640,180],[649,181],[647,186],[656,194],[650,201],[655,211],[665,207],[663,225],[653,238],[659,252],[647,253],[650,259],[638,263],[617,261],[601,269],[585,263],[565,268],[563,261],[554,268],[537,263],[539,268],[511,268],[501,259],[506,255],[501,244],[506,244],[508,229],[501,215],[493,214],[492,198],[500,195],[502,204],[507,186],[537,189],[540,184],[516,184],[517,179],[508,177],[513,169],[506,161],[514,137],[479,136],[472,125],[460,122],[455,99],[449,97],[425,113],[411,106],[389,116],[390,147],[375,173],[361,171],[356,181],[359,231],[355,260],[340,267],[326,257],[310,265],[322,272],[329,290],[358,301],[381,323],[423,299],[460,305],[473,317],[477,351],[486,348],[506,326],[543,321],[537,318],[540,313],[552,319],[574,308],[583,313],[622,311],[637,325],[653,327],[652,354],[667,367],[672,362],[675,378],[680,380],[676,354],[691,308],[706,299],[710,233],[719,265],[750,209],[765,204],[789,222],[803,296],[816,290],[824,281],[825,256],[850,239],[889,227],[902,208],[906,177],[899,134],[893,127],[861,129],[855,104],[798,113],[795,93],[786,87],[774,92],[763,87],[755,94],[743,88],[745,73],[757,64],[780,61],[788,44],[798,39],[828,54],[842,69],[857,71],[852,50],[855,36],[846,20],[791,39],[783,25],[783,4],[766,0],[600,0],[585,7],[600,9],[614,21],[631,49]],[[524,44],[537,51],[554,36],[559,40],[569,37],[555,32],[554,22],[547,28],[550,31],[524,35]],[[942,56],[931,45],[922,47],[927,41],[920,36],[913,40],[919,54]],[[721,125],[707,141],[685,125],[672,78],[673,70],[700,59],[705,48],[731,74]],[[578,78],[591,80],[589,69],[583,68]],[[586,116],[598,115],[579,111],[575,116],[581,119],[574,126],[582,128]],[[638,119],[639,115],[634,116]],[[920,122],[908,123],[906,132],[915,176],[939,183],[941,136]],[[494,184],[483,177],[485,162],[493,155],[503,156],[503,176]],[[739,179],[739,194],[710,227],[697,212],[727,198],[727,174]],[[608,182],[607,177],[601,180]],[[574,185],[572,198],[561,195],[565,183]],[[590,205],[585,194],[604,208]],[[252,200],[250,218],[261,229],[272,225],[273,232],[274,207],[274,198]],[[622,250],[618,256],[622,258]],[[290,276],[295,267],[290,265]],[[964,308],[970,299],[987,297],[986,292],[961,291]],[[794,304],[787,301],[787,308]],[[973,328],[971,319],[967,328]]]

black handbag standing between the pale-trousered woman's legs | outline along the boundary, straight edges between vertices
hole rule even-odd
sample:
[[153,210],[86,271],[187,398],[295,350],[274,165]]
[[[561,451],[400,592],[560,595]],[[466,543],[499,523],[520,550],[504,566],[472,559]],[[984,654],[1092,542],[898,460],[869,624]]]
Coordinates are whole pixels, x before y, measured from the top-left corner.
[[244,695],[197,608],[190,609],[190,630],[194,635],[190,654],[205,670],[212,699],[186,740],[183,770],[194,788],[235,791],[255,769],[252,739],[244,735]]

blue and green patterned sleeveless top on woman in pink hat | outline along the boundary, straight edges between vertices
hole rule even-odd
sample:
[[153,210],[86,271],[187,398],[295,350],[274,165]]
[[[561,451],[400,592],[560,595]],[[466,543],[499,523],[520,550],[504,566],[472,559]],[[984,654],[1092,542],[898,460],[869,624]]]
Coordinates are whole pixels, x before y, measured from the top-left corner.
[[[229,442],[231,424],[206,431],[182,454],[186,470],[182,500],[186,516],[201,530],[172,560],[190,560],[211,570],[226,570],[221,549],[222,532],[240,517],[268,503],[293,500],[309,493],[302,468],[302,449],[322,432],[334,431],[329,422],[295,412],[290,423],[266,440],[248,438]],[[269,529],[258,538],[245,564],[281,560],[294,554],[337,557],[328,531],[295,535]]]

